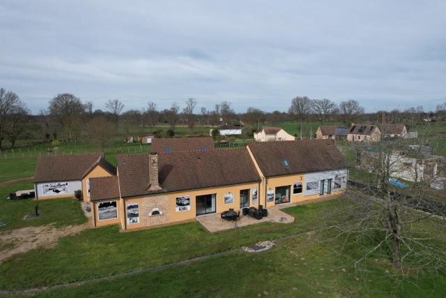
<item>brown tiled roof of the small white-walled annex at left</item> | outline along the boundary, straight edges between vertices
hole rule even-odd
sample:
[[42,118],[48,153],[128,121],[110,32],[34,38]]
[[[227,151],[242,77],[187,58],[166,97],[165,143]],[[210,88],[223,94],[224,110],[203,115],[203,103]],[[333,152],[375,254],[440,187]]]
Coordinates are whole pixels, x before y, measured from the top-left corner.
[[39,156],[34,182],[81,180],[96,165],[101,165],[110,174],[116,174],[116,168],[105,161],[104,154]]

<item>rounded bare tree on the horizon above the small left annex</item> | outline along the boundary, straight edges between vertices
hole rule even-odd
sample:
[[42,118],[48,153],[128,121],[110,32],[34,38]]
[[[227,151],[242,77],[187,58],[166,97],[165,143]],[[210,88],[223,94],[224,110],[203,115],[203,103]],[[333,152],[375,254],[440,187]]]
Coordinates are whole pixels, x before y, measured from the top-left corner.
[[82,101],[72,94],[59,94],[49,101],[49,114],[59,123],[61,134],[68,129],[71,136],[71,125],[77,123],[74,118],[84,113],[85,107]]

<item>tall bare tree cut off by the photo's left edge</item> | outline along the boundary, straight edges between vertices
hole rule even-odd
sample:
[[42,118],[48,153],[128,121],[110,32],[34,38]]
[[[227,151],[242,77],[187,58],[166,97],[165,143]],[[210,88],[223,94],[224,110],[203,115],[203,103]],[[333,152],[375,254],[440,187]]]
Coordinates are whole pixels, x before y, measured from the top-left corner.
[[16,119],[15,115],[21,114],[24,110],[26,107],[17,94],[0,89],[0,151],[1,141],[6,137],[10,122]]

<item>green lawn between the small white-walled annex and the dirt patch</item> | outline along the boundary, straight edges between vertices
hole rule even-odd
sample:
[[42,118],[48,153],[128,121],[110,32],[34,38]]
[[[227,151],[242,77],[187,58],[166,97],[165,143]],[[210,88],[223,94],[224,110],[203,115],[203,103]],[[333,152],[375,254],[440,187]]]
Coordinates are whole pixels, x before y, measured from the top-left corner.
[[[55,223],[56,226],[79,225],[86,222],[80,202],[75,199],[62,200],[7,200],[9,193],[17,190],[32,189],[31,181],[23,181],[0,186],[0,221],[6,223],[0,232],[27,226]],[[26,214],[33,214],[34,207],[39,204],[39,218],[26,219]]]

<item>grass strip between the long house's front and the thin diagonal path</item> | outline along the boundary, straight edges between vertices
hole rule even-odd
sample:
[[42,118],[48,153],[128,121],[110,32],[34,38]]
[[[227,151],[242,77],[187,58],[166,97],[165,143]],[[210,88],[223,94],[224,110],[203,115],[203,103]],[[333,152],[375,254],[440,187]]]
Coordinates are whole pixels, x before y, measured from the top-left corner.
[[[286,209],[295,223],[261,223],[210,234],[199,223],[118,232],[118,226],[84,230],[63,238],[56,248],[17,255],[0,266],[0,289],[32,288],[83,281],[156,267],[252,245],[314,229],[323,214],[345,200]],[[38,273],[38,274],[37,274]]]

